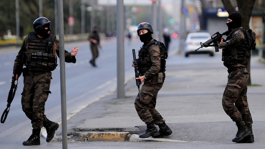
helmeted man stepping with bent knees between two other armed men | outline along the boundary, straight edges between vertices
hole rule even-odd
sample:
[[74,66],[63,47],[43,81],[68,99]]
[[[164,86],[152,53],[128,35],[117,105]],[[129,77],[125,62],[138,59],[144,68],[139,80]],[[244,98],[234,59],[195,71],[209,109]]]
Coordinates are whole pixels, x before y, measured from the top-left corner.
[[[137,59],[137,67],[141,76],[136,79],[140,79],[141,83],[144,82],[144,84],[140,89],[141,98],[138,94],[134,105],[140,119],[147,124],[147,129],[144,134],[140,135],[140,138],[150,136],[162,138],[172,134],[163,117],[155,109],[156,96],[165,79],[164,69],[161,69],[161,67],[165,68],[165,66],[161,66],[159,46],[152,44],[147,47],[149,42],[154,41],[152,26],[147,22],[140,23],[137,33],[144,45],[140,49],[139,58]],[[165,62],[163,64],[165,65]],[[159,126],[159,131],[154,124]]]

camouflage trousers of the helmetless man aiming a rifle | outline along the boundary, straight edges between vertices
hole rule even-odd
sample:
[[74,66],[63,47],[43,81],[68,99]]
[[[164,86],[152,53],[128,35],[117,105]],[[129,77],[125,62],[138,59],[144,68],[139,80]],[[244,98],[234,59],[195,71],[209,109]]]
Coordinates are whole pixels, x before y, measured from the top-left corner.
[[247,103],[247,83],[249,72],[246,68],[238,69],[228,75],[228,82],[223,92],[223,109],[234,121],[243,120],[252,128],[252,117]]

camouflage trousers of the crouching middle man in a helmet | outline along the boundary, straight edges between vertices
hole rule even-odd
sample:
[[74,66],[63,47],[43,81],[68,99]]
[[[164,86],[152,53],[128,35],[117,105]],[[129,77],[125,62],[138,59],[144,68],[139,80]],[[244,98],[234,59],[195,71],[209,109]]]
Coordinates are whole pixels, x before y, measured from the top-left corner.
[[139,93],[135,99],[134,106],[136,112],[145,124],[154,123],[158,125],[164,123],[165,121],[160,113],[155,109],[156,96],[162,86],[163,83],[156,83],[156,76],[151,80],[144,81],[144,84],[140,89],[141,100],[139,98]]

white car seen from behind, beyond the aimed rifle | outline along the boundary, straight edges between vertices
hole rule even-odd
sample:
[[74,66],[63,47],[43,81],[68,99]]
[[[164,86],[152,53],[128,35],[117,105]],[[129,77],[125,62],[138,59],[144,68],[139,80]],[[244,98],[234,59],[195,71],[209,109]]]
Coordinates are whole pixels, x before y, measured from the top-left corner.
[[215,48],[213,46],[203,47],[194,52],[195,49],[201,46],[201,42],[204,43],[209,39],[211,39],[211,35],[208,32],[188,33],[184,45],[185,57],[188,57],[190,54],[209,54],[210,56],[214,56]]

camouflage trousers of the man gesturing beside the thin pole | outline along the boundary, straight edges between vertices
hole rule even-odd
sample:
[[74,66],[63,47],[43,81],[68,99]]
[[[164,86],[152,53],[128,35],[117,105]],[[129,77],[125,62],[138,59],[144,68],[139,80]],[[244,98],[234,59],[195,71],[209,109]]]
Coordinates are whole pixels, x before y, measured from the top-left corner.
[[31,120],[33,129],[41,129],[43,121],[47,118],[44,114],[52,73],[40,75],[24,75],[24,88],[22,92],[22,110]]

